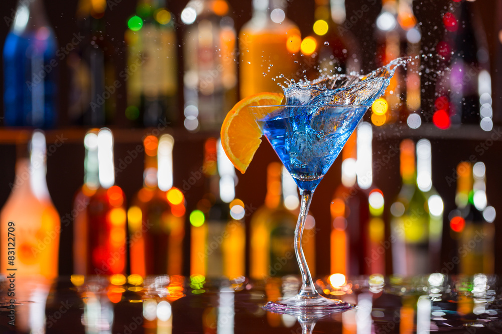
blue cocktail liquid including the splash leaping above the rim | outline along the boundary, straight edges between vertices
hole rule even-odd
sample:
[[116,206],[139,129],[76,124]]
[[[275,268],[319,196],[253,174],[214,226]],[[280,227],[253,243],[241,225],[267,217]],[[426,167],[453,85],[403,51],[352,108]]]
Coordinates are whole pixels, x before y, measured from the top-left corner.
[[409,61],[395,59],[364,77],[335,75],[289,82],[283,87],[286,105],[259,113],[267,115],[258,120],[263,134],[300,189],[315,190],[368,106],[385,92],[396,68]]

